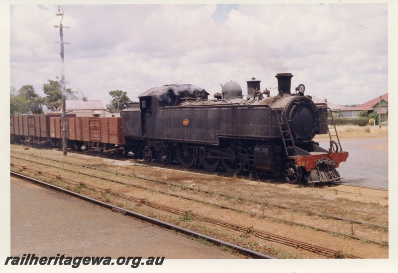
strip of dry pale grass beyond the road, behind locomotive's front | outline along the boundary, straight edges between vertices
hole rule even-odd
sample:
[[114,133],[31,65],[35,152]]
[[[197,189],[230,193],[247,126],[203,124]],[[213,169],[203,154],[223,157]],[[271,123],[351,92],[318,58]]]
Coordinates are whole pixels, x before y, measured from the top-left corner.
[[[340,140],[388,138],[389,136],[388,127],[341,125],[336,126],[336,129]],[[331,133],[334,135],[334,132]],[[327,139],[329,139],[329,134],[316,135],[314,138],[315,141],[325,141]]]

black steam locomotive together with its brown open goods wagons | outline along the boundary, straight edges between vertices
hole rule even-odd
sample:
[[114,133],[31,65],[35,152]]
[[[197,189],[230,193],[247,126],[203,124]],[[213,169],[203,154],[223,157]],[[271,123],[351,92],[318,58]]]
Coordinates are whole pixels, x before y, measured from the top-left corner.
[[[261,91],[261,81],[255,78],[247,81],[246,98],[234,81],[224,84],[214,99],[191,84],[154,87],[130,103],[121,118],[68,118],[68,145],[134,154],[166,165],[176,161],[184,168],[201,166],[209,172],[222,168],[258,177],[282,174],[291,184],[302,179],[308,183],[340,180],[336,168],[346,161],[348,152],[342,150],[334,124],[327,123],[327,105],[305,96],[303,84],[291,93],[291,73],[276,77],[276,96],[270,96],[268,89]],[[35,138],[15,129],[19,123],[15,117],[11,116],[11,140],[60,144],[60,118],[47,118],[49,136]],[[312,140],[317,134],[329,134],[328,150]]]

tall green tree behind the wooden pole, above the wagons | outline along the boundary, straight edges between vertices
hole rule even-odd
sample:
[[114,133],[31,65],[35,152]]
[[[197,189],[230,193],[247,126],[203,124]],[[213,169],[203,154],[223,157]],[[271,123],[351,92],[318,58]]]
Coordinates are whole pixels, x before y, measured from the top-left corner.
[[[46,94],[46,97],[44,98],[44,105],[46,105],[50,111],[56,110],[62,103],[62,82],[59,77],[56,77],[56,79],[57,80],[49,79],[48,83],[43,84],[43,91],[44,94]],[[77,99],[76,91],[72,91],[71,88],[67,88],[65,91],[66,99]]]

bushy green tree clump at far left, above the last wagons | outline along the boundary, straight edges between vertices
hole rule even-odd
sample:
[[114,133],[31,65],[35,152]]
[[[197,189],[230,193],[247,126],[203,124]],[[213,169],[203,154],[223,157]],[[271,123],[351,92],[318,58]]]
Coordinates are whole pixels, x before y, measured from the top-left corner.
[[10,89],[10,114],[43,114],[43,98],[36,93],[32,85],[22,86],[15,94],[15,87]]

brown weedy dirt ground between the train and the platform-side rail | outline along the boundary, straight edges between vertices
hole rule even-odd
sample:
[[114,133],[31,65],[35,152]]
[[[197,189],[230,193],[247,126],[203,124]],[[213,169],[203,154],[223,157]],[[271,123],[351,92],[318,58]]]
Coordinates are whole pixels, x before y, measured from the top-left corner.
[[[34,158],[31,156],[38,157]],[[366,224],[361,225],[349,221],[333,220],[326,215],[336,215],[343,218],[388,226],[388,191],[344,185],[322,185],[315,187],[300,184],[290,185],[276,178],[259,181],[248,176],[236,177],[220,173],[208,174],[199,169],[184,170],[178,166],[163,167],[155,163],[143,164],[142,161],[116,160],[80,153],[68,153],[68,156],[65,157],[62,155],[62,151],[59,150],[25,149],[23,146],[11,145],[11,162],[14,164],[29,165],[43,172],[52,171],[60,175],[74,177],[69,171],[62,171],[56,166],[51,168],[26,161],[27,158],[31,158],[32,161],[43,161],[42,157],[48,158],[47,162],[55,159],[107,169],[112,171],[118,179],[126,179],[126,181],[131,183],[139,183],[152,189],[148,191],[133,187],[123,188],[109,186],[110,184],[107,184],[107,182],[99,182],[98,179],[93,179],[92,181],[101,187],[113,187],[115,190],[122,191],[123,194],[131,194],[156,201],[157,203],[184,208],[208,217],[239,223],[247,227],[287,236],[300,241],[311,242],[314,245],[336,249],[362,258],[388,258],[388,246],[369,243],[366,240],[352,239],[334,232],[320,232],[317,230],[319,228],[328,229],[380,242],[388,242],[388,229],[380,231],[376,228],[370,228]],[[64,165],[66,166],[66,164]],[[76,170],[80,169],[75,168]],[[139,179],[133,179],[134,181],[132,181],[131,178],[121,178],[120,174],[122,173],[128,173],[135,177],[166,181],[178,185],[178,187],[169,186],[165,188],[156,183],[140,181]],[[76,175],[76,179],[79,179],[79,177]],[[82,179],[85,181],[91,180],[88,178]],[[204,195],[196,191],[187,191],[187,188],[207,191],[211,194]],[[221,209],[211,205],[202,205],[200,202],[193,202],[184,198],[175,198],[167,193],[162,194],[162,191],[196,198],[215,205],[230,206],[234,209],[242,210],[244,213],[236,213],[233,210]],[[230,197],[223,195],[229,195]],[[240,201],[237,197],[256,201],[257,204]],[[290,209],[281,208],[280,206],[287,206]],[[316,214],[302,212],[302,210],[314,211]],[[148,213],[154,212],[148,211]],[[161,216],[163,215],[160,212],[158,213]],[[163,215],[163,217],[166,216]],[[301,223],[302,225],[292,223]],[[202,223],[192,223],[191,227],[195,225],[197,228],[200,228]],[[308,226],[315,228],[308,228]],[[213,227],[207,226],[206,228]],[[223,232],[227,233],[230,231],[227,231],[226,228],[219,229],[218,236],[222,237],[220,234]],[[233,234],[233,232],[230,233]],[[285,248],[285,246],[278,244],[267,245],[268,243],[256,238],[249,238],[248,236],[242,238],[242,234],[238,234],[234,238],[233,240],[238,244],[244,244],[246,240],[250,239],[256,241],[265,249],[278,249],[279,251],[289,252],[285,258],[319,258],[316,256],[300,256],[299,250],[292,252],[292,250]]]

